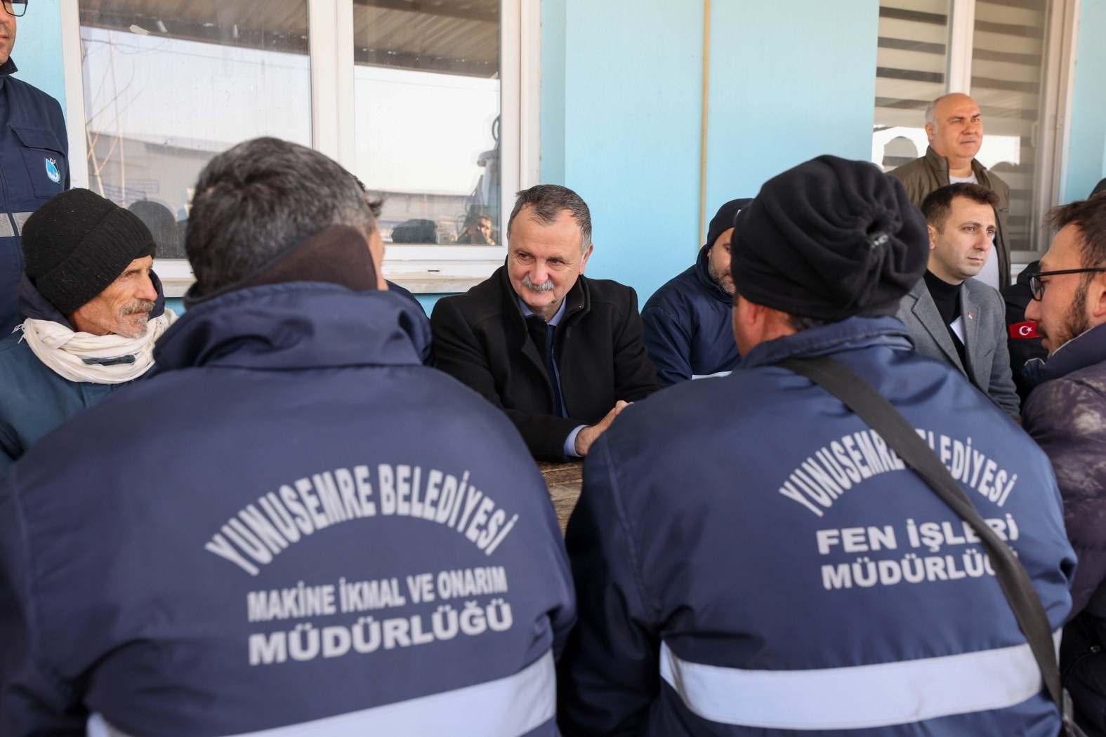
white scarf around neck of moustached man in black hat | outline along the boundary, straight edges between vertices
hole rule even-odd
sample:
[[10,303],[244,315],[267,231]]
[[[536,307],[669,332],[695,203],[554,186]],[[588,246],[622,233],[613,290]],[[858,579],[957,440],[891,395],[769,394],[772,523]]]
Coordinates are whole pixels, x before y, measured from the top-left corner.
[[[53,320],[23,320],[23,340],[43,364],[70,381],[91,383],[126,383],[137,379],[154,365],[154,343],[176,322],[177,315],[166,309],[146,324],[146,333],[137,338],[122,335],[74,333]],[[127,358],[133,360],[125,360]],[[116,362],[118,359],[124,359]]]

